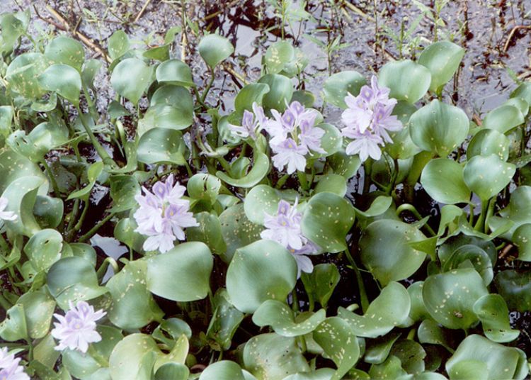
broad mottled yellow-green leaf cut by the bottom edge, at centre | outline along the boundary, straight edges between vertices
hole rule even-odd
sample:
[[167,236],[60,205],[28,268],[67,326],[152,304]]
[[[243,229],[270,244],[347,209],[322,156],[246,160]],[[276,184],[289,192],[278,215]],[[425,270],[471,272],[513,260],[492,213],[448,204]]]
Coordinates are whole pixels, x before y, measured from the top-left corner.
[[277,334],[251,337],[244,347],[244,367],[257,379],[268,380],[282,380],[310,370],[295,338]]

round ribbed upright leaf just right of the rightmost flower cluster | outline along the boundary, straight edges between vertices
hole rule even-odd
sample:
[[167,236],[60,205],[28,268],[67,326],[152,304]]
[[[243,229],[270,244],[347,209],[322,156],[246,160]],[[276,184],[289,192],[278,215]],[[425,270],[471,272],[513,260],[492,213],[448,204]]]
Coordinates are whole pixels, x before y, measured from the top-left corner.
[[468,130],[467,114],[461,108],[438,100],[423,106],[409,119],[409,133],[413,143],[440,157],[446,157],[461,145]]

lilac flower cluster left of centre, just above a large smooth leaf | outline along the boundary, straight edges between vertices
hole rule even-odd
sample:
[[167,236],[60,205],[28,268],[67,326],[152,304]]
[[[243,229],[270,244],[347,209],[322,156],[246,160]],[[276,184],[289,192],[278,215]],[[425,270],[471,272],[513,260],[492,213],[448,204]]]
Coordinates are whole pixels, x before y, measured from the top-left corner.
[[142,187],[144,195],[135,196],[140,205],[134,215],[138,224],[135,231],[149,236],[144,250],[168,252],[176,239],[185,240],[183,228],[199,225],[188,211],[190,202],[182,199],[185,190],[178,182],[173,185],[173,174],[170,174],[166,182],[154,184],[153,193]]

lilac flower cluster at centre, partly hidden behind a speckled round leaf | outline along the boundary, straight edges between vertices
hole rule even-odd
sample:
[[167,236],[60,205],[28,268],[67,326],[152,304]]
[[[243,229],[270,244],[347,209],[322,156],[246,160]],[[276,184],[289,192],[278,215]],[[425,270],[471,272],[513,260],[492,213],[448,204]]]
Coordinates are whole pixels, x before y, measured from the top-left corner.
[[260,237],[274,240],[287,248],[297,262],[297,279],[301,272],[312,273],[314,264],[306,255],[315,255],[319,247],[302,235],[300,221],[302,213],[297,212],[297,202],[290,206],[287,201],[278,203],[277,215],[265,214],[265,230]]

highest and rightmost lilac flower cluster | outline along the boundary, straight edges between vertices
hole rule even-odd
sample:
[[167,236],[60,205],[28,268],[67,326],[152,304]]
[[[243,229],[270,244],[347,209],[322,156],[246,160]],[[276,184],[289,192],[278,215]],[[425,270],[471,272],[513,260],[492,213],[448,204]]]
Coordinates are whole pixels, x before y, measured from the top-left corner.
[[341,118],[346,127],[341,130],[344,137],[352,141],[346,147],[347,155],[360,155],[364,162],[368,157],[379,160],[381,146],[393,140],[387,131],[401,130],[402,123],[392,116],[396,99],[389,99],[389,89],[380,87],[372,76],[370,86],[362,86],[360,94],[345,97],[348,108]]

